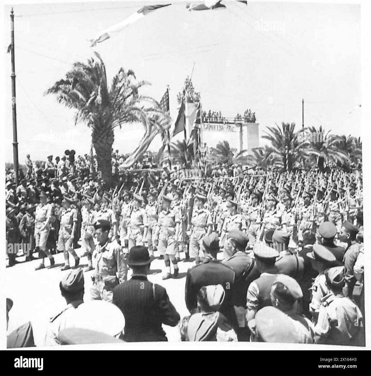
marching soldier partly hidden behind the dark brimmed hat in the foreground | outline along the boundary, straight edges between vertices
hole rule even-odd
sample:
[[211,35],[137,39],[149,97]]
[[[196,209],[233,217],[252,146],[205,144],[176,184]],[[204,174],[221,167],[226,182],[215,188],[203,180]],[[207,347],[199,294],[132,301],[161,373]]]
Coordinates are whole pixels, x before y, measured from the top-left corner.
[[129,249],[143,246],[147,239],[148,220],[146,211],[141,207],[143,197],[134,194],[134,204],[130,214]]

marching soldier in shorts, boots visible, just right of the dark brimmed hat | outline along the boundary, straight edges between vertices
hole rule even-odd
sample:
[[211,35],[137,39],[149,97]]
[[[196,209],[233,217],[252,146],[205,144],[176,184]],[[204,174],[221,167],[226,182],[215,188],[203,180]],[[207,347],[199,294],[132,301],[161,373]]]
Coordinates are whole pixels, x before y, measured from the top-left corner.
[[178,211],[170,208],[172,198],[169,196],[163,197],[162,210],[158,215],[157,226],[155,231],[155,245],[158,245],[160,255],[164,256],[166,273],[162,279],[169,279],[172,277],[170,261],[174,267],[173,277],[176,278],[179,274],[178,262],[176,261],[176,250],[178,248],[179,224],[180,218]]

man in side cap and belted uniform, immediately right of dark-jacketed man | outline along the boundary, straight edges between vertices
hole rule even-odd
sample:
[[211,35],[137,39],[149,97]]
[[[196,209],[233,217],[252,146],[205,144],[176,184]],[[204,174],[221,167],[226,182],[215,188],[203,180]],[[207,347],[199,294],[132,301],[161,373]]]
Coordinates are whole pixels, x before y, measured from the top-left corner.
[[250,283],[260,276],[260,271],[255,265],[254,259],[245,252],[248,236],[239,230],[232,230],[228,233],[232,246],[232,257],[224,261],[225,265],[231,267],[236,273],[233,289],[234,311],[238,321],[235,328],[239,341],[249,341],[250,331],[245,320],[246,293]]

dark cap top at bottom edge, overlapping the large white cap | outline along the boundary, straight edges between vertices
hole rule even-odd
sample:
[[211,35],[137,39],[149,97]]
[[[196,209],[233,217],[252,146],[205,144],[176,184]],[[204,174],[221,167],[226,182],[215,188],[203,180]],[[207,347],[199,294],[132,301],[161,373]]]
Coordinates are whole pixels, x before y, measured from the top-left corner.
[[82,328],[67,328],[58,333],[61,345],[82,345],[94,343],[125,343],[111,335]]

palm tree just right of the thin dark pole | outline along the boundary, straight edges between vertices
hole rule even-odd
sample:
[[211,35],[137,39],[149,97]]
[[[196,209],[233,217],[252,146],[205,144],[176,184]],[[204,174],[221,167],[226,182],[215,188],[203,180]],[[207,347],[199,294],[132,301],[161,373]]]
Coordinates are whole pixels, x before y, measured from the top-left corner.
[[[315,127],[308,127],[308,130],[312,135],[318,135],[318,137],[312,136],[312,139],[309,140],[309,144],[314,152],[313,155],[316,158],[316,164],[321,171],[324,171],[325,167],[331,164],[346,165],[350,162],[345,146],[345,150],[341,150],[341,147],[339,147],[339,143],[341,142],[339,136],[330,135],[330,131],[326,133],[322,126],[319,126],[318,129]],[[347,144],[347,147],[350,148],[351,142],[346,138],[345,143]]]

